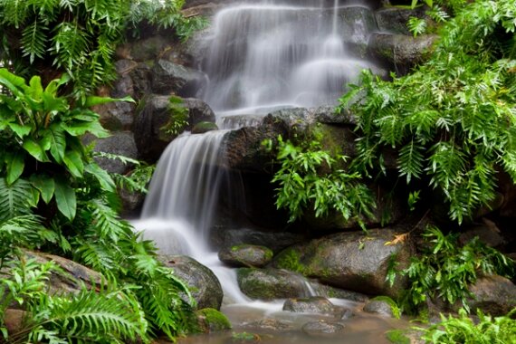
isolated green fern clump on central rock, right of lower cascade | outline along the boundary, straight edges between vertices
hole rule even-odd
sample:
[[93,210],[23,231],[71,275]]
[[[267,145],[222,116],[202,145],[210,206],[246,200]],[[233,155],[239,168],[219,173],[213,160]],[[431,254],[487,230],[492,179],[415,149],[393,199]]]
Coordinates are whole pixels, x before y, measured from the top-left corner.
[[[265,145],[272,148],[272,141]],[[362,216],[374,217],[375,200],[360,174],[347,173],[342,168],[347,157],[322,149],[317,138],[296,146],[280,136],[276,160],[281,163],[272,179],[278,185],[276,205],[289,211],[291,222],[306,210],[316,217],[337,212],[344,220],[355,219],[359,224]]]

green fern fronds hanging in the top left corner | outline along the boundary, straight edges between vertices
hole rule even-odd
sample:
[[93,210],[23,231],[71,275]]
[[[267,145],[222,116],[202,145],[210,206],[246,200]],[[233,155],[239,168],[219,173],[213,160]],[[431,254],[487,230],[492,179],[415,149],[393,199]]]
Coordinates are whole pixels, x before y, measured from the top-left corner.
[[[0,62],[46,83],[62,72],[83,99],[113,81],[114,53],[139,23],[185,38],[203,22],[180,13],[184,0],[0,0]],[[57,72],[56,72],[57,70]]]

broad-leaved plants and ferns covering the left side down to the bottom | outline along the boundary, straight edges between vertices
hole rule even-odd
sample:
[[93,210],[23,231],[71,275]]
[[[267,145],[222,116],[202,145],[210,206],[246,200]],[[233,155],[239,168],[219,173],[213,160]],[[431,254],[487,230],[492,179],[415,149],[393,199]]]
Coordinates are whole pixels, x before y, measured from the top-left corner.
[[[139,190],[143,180],[114,179],[79,138],[107,135],[89,107],[113,99],[85,97],[71,103],[59,96],[68,79],[43,88],[39,77],[26,83],[0,69],[5,91],[0,95],[0,144],[5,148],[0,153],[0,263],[10,269],[2,287],[7,303],[0,311],[10,305],[9,298],[28,307],[31,319],[16,335],[24,341],[121,342],[145,340],[158,331],[174,339],[189,323],[188,305],[179,296],[189,291],[158,263],[153,244],[117,214],[115,180]],[[40,287],[54,267],[24,262],[19,248],[34,246],[84,263],[108,282],[99,286],[100,293],[43,297]]]

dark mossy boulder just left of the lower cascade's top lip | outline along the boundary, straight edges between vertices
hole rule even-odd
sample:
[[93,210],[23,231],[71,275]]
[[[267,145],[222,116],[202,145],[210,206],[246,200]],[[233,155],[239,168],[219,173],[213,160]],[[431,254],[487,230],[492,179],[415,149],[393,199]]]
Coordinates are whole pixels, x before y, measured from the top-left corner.
[[[170,96],[150,95],[140,101],[133,131],[139,158],[148,162],[156,162],[168,143],[179,134],[167,130],[177,116],[186,120],[183,129],[191,129],[202,121],[215,121],[213,110],[202,100],[183,99],[181,104],[177,104],[171,103],[170,99]],[[178,108],[186,111],[176,110]]]

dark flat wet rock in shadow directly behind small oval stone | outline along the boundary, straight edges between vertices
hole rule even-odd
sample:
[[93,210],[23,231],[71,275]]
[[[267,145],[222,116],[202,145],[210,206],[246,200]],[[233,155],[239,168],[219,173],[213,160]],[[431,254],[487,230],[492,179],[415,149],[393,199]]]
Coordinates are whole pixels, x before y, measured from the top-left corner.
[[263,232],[251,228],[221,230],[220,233],[220,237],[215,237],[217,246],[231,248],[240,244],[254,244],[268,247],[276,253],[305,239],[303,234]]

